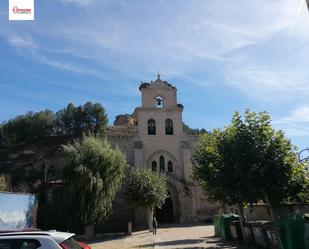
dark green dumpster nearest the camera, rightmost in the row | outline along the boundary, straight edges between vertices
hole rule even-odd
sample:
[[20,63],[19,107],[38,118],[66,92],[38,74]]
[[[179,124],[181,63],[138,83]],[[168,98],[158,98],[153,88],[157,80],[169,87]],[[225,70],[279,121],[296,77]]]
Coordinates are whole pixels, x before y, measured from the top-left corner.
[[283,249],[306,249],[305,224],[301,214],[289,215],[279,220],[277,226]]

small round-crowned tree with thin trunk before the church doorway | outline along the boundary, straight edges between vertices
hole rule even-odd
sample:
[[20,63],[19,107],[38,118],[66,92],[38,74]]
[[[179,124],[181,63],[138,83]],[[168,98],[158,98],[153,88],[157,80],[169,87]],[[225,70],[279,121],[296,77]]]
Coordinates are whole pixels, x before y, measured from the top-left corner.
[[167,198],[165,177],[149,169],[131,170],[126,181],[126,198],[135,208],[149,209],[148,225],[152,231],[153,209],[161,208]]

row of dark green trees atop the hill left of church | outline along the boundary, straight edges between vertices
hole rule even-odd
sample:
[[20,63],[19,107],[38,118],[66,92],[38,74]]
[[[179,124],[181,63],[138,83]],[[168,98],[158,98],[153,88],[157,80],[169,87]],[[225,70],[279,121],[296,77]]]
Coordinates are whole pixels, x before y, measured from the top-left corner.
[[77,107],[70,103],[56,113],[28,112],[0,125],[0,146],[50,136],[100,135],[104,134],[107,123],[105,109],[99,103],[87,102]]

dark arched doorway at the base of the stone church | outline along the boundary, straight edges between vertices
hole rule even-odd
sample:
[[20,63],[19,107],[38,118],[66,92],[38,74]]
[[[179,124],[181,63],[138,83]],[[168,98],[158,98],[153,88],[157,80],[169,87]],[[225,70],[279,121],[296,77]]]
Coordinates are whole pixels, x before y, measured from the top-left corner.
[[168,197],[166,198],[162,207],[155,209],[155,216],[159,224],[175,222],[174,205],[175,204],[173,202],[171,193],[168,191]]

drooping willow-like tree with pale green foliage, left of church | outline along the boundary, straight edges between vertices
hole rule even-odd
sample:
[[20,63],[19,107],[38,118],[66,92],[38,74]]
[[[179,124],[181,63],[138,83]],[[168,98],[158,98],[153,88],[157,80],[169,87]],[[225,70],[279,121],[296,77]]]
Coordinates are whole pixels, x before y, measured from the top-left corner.
[[62,146],[68,228],[103,222],[111,212],[126,167],[119,149],[93,136]]

